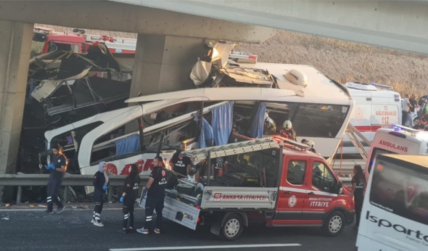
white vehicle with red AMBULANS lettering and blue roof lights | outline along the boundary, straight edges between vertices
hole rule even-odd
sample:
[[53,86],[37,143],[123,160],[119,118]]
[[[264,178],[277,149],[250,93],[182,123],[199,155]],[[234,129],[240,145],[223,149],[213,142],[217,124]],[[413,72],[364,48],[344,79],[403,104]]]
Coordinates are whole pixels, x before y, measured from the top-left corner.
[[369,150],[364,174],[368,179],[375,157],[383,153],[428,155],[428,132],[401,125],[376,131]]

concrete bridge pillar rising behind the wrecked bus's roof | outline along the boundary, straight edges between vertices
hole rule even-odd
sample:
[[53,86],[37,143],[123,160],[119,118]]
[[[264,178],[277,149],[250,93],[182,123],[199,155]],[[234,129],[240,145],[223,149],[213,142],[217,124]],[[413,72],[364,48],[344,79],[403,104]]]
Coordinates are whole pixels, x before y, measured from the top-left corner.
[[189,73],[204,38],[138,34],[130,97],[193,88]]

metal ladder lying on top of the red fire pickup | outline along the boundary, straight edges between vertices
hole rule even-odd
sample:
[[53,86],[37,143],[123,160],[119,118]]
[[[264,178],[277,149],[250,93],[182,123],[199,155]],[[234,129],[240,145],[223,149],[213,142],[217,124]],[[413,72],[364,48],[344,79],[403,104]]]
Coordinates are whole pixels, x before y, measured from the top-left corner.
[[278,148],[280,143],[271,137],[241,141],[220,146],[183,151],[182,156],[190,157],[194,161],[202,161],[217,157],[230,156],[244,152]]

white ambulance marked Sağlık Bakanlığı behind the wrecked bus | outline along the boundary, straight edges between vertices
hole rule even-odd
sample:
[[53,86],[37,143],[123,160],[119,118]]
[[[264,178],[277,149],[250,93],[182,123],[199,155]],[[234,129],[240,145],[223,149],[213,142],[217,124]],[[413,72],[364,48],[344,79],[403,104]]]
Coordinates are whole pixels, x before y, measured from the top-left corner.
[[[401,124],[400,94],[392,91],[392,87],[358,82],[349,82],[345,86],[355,101],[350,123],[367,139],[373,140],[379,128],[391,128],[394,124]],[[369,149],[370,145],[362,140],[361,143],[366,150]],[[358,153],[346,135],[343,136],[343,153]]]

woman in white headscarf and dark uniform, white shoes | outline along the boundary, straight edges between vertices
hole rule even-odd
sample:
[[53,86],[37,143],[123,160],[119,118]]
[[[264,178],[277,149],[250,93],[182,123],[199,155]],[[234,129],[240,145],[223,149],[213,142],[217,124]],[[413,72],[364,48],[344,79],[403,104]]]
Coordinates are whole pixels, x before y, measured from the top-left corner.
[[104,195],[107,193],[107,184],[108,184],[108,177],[107,177],[107,163],[104,161],[101,161],[98,164],[98,172],[94,175],[94,201],[95,201],[95,208],[94,208],[94,215],[92,217],[91,223],[93,223],[97,227],[104,227],[103,223],[101,222],[101,211],[103,211],[103,204],[104,204]]

